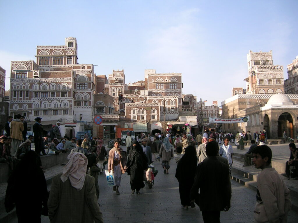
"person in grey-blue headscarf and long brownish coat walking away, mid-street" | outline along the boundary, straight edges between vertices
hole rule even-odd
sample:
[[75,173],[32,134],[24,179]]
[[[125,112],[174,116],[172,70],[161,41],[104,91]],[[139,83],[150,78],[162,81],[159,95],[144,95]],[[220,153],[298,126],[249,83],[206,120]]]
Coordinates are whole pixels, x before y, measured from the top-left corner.
[[169,174],[170,160],[174,157],[173,146],[170,143],[168,137],[164,138],[164,142],[160,146],[158,157],[162,158],[162,168],[164,169],[164,174]]

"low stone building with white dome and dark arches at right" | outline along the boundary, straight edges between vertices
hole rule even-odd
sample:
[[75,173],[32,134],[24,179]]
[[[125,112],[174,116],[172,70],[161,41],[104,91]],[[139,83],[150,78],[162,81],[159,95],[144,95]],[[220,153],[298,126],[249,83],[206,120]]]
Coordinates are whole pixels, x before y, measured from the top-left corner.
[[298,95],[238,94],[222,102],[222,118],[248,117],[248,122],[224,124],[223,130],[255,132],[266,129],[268,139],[297,135]]

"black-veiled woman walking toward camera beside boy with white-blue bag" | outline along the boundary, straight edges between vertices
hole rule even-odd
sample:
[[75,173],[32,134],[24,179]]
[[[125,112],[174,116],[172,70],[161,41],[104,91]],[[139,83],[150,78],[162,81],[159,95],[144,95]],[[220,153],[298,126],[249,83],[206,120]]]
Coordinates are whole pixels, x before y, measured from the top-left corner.
[[141,145],[136,140],[131,143],[127,157],[126,172],[130,175],[131,194],[140,194],[140,189],[145,187],[143,182],[144,170],[148,169],[147,157],[144,154]]

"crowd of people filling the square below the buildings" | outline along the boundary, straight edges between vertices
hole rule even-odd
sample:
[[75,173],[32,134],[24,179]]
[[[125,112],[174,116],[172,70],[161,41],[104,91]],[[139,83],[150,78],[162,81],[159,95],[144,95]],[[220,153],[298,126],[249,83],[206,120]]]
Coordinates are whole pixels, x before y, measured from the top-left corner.
[[[21,125],[20,118],[15,116],[10,121],[10,136],[0,137],[0,162],[7,162],[11,170],[5,207],[7,212],[16,208],[18,222],[41,222],[41,214],[49,216],[51,222],[103,222],[97,201],[100,196],[98,175],[103,173],[105,164],[108,172],[113,172],[112,190],[117,195],[120,194],[121,178],[125,173],[130,177],[131,194],[141,194],[141,189],[145,187],[146,170],[154,162],[161,161],[163,173],[167,175],[173,158],[177,163],[175,177],[179,183],[181,208],[187,210],[198,205],[204,222],[220,222],[220,212],[228,211],[231,207],[232,143],[244,145],[244,141],[248,140],[252,146],[245,154],[243,166],[249,166],[252,162],[256,168],[262,169],[257,180],[255,221],[274,222],[280,219],[286,222],[291,207],[289,190],[270,166],[271,149],[262,143],[256,144],[256,139],[265,142],[266,130],[260,134],[255,133],[254,139],[249,131],[238,132],[234,136],[232,133],[217,133],[212,129],[206,129],[204,134],[196,137],[190,132],[174,136],[167,132],[152,136],[141,134],[138,140],[133,140],[128,133],[125,139],[127,151],[120,147],[121,140],[116,139],[107,152],[103,140],[98,137],[91,141],[85,137],[76,142],[70,141],[67,136],[62,137],[59,122],[53,126],[54,135],[48,144],[38,134],[41,132],[40,117],[35,119],[34,136],[26,139],[23,134],[25,125]],[[13,138],[16,135],[18,139]],[[262,135],[264,139],[260,137]],[[32,138],[35,151],[31,150]],[[13,150],[13,146],[17,146],[17,150]],[[295,144],[289,146],[291,157],[286,165],[297,166],[298,162],[295,161],[298,160],[298,150]],[[45,148],[48,148],[47,153]],[[63,172],[53,178],[48,193],[40,156],[60,153],[69,153],[68,162]],[[290,170],[286,170],[288,176]],[[29,182],[25,179],[31,180]],[[21,183],[25,181],[25,185]],[[33,196],[32,199],[32,194],[24,193],[24,189],[38,193],[39,196]],[[29,212],[30,215],[27,214]]]

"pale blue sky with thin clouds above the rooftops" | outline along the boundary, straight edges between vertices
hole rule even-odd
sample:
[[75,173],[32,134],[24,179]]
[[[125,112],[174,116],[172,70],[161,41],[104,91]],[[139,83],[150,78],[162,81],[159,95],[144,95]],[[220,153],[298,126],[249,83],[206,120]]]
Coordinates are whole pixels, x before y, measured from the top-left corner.
[[[145,69],[181,73],[183,94],[218,104],[246,87],[247,54],[272,50],[274,65],[298,55],[298,1],[6,1],[0,0],[0,66],[35,60],[37,45],[75,37],[78,63],[96,75],[122,70],[125,82]],[[6,78],[5,89],[10,88]]]

